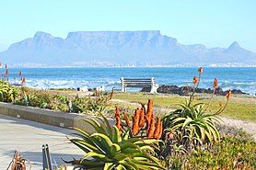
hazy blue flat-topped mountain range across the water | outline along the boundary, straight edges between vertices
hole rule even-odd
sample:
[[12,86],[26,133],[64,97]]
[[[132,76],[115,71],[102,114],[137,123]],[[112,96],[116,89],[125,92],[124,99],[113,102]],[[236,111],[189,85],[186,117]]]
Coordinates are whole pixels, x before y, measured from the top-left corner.
[[13,67],[256,66],[256,53],[238,42],[208,49],[183,45],[158,30],[77,31],[65,39],[38,31],[0,52]]

